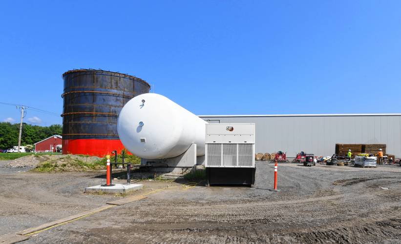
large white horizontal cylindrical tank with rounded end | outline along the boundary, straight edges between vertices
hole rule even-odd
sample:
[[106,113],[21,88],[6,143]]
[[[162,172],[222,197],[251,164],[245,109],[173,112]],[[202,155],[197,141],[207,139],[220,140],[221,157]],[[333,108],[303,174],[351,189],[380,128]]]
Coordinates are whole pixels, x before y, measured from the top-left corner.
[[167,159],[183,154],[196,143],[205,155],[208,122],[168,98],[146,93],[131,99],[118,117],[117,130],[128,151],[143,159]]

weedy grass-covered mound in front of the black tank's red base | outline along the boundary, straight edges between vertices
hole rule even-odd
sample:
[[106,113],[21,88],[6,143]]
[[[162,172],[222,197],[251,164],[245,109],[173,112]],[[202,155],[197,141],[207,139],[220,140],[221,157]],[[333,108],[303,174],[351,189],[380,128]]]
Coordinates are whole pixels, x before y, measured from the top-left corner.
[[47,160],[31,169],[34,172],[84,172],[106,169],[106,164],[101,161],[84,162],[80,159],[66,156],[60,159]]

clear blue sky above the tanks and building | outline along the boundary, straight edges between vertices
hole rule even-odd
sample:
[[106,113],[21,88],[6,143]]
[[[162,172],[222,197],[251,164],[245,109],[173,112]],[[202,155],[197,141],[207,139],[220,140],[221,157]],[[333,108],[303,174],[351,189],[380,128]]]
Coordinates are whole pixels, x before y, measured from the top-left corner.
[[[61,114],[63,72],[101,68],[198,115],[400,113],[400,10],[379,0],[1,1],[0,102]],[[19,114],[0,105],[1,121]],[[28,110],[24,121],[62,118]]]

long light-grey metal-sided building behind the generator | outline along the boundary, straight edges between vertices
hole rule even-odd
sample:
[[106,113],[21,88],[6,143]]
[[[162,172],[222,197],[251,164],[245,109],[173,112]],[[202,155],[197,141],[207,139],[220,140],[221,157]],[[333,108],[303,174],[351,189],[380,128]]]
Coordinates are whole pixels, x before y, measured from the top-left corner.
[[331,156],[336,143],[387,144],[401,156],[401,114],[202,115],[211,123],[255,123],[256,152]]

